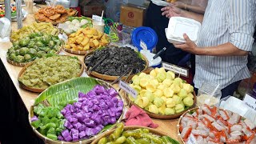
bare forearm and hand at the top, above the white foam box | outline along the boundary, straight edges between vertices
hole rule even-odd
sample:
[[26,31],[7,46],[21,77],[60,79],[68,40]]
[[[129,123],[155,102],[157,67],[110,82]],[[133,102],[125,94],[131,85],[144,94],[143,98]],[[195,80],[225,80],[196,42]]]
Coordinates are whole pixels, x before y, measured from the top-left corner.
[[179,16],[179,17],[185,17],[185,18],[192,18],[192,19],[202,23],[202,19],[203,19],[202,14],[196,14],[193,12],[182,10],[176,6],[166,6],[166,7],[162,8],[161,10],[162,10],[162,15],[165,15],[166,18]]

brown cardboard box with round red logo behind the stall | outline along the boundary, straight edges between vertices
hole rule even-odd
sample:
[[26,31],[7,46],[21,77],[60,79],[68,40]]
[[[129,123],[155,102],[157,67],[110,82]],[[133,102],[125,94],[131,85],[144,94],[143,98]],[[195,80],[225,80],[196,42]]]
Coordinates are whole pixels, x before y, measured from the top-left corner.
[[143,26],[146,8],[137,6],[121,6],[120,22],[126,26]]

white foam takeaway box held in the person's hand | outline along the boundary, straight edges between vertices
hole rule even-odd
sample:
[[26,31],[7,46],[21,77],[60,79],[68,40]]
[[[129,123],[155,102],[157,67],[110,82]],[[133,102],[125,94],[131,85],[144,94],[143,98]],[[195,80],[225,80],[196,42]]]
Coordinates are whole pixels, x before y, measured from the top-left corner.
[[168,42],[179,44],[186,42],[183,34],[187,34],[191,41],[198,41],[198,33],[201,28],[201,23],[190,18],[172,17],[169,20],[166,30],[166,38]]

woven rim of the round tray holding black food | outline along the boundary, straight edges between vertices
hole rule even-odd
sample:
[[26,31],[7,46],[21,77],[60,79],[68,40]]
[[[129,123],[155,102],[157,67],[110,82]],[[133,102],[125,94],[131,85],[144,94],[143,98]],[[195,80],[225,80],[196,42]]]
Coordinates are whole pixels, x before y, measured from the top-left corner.
[[[88,57],[91,54],[93,54],[93,52],[90,52],[90,53],[86,54],[86,56],[84,58],[84,63],[85,63],[86,57]],[[146,72],[146,71],[148,71],[147,69],[148,69],[148,66],[149,66],[149,61],[146,59],[146,57],[143,54],[142,54],[142,57],[143,57],[143,60],[146,62],[146,66],[145,66],[144,70],[142,70],[142,72],[144,72],[144,71]],[[85,65],[85,68],[86,68],[86,74],[88,74],[86,65]],[[100,78],[100,79],[103,79],[103,80],[106,80],[106,81],[114,81],[119,77],[119,76],[110,76],[110,75],[106,75],[106,74],[99,74],[98,72],[95,72],[95,71],[92,71],[88,75],[92,75],[95,78]],[[134,75],[135,74],[130,75],[130,78],[132,78]],[[126,79],[126,76],[122,77],[122,79]]]

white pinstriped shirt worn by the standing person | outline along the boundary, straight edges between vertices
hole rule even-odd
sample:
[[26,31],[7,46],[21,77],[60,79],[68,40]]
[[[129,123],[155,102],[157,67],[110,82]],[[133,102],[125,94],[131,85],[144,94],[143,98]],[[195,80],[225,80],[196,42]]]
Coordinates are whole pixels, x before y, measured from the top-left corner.
[[[209,0],[198,38],[198,47],[218,46],[226,42],[251,51],[256,22],[255,0]],[[221,89],[250,78],[247,56],[196,56],[194,84],[216,82]]]

